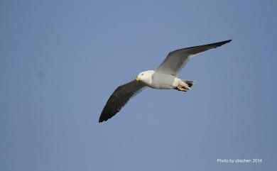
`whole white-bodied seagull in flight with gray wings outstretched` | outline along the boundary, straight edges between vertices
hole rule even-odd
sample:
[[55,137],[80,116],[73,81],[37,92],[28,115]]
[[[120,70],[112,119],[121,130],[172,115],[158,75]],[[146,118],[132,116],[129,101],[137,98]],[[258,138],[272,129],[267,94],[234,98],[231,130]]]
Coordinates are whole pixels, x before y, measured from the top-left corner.
[[188,63],[191,57],[229,43],[231,40],[183,48],[168,53],[156,70],[143,71],[133,81],[122,84],[114,90],[102,110],[99,123],[112,118],[127,104],[131,97],[136,96],[147,87],[188,92],[195,84],[195,80],[180,79],[178,78],[178,72]]

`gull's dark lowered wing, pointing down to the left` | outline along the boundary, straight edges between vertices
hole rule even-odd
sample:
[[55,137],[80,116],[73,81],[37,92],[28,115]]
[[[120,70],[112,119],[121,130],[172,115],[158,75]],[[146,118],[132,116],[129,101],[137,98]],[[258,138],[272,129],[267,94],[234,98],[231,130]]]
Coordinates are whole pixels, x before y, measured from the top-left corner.
[[146,88],[146,84],[137,82],[136,80],[117,87],[104,106],[102,114],[99,117],[99,122],[107,121],[109,118],[112,118],[112,116],[127,104],[132,96],[141,92],[143,88]]

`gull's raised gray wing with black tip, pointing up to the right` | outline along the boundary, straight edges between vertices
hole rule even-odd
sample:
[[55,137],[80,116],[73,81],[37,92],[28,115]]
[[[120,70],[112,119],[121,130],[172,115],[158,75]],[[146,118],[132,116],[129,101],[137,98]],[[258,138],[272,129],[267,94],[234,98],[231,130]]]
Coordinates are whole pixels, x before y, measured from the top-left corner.
[[168,75],[177,75],[192,56],[205,52],[206,50],[217,48],[221,45],[224,45],[225,43],[229,43],[230,41],[231,40],[225,40],[207,45],[199,45],[190,48],[174,50],[168,53],[168,56],[165,57],[165,60],[163,60],[161,65],[156,69],[156,72],[161,72]]

